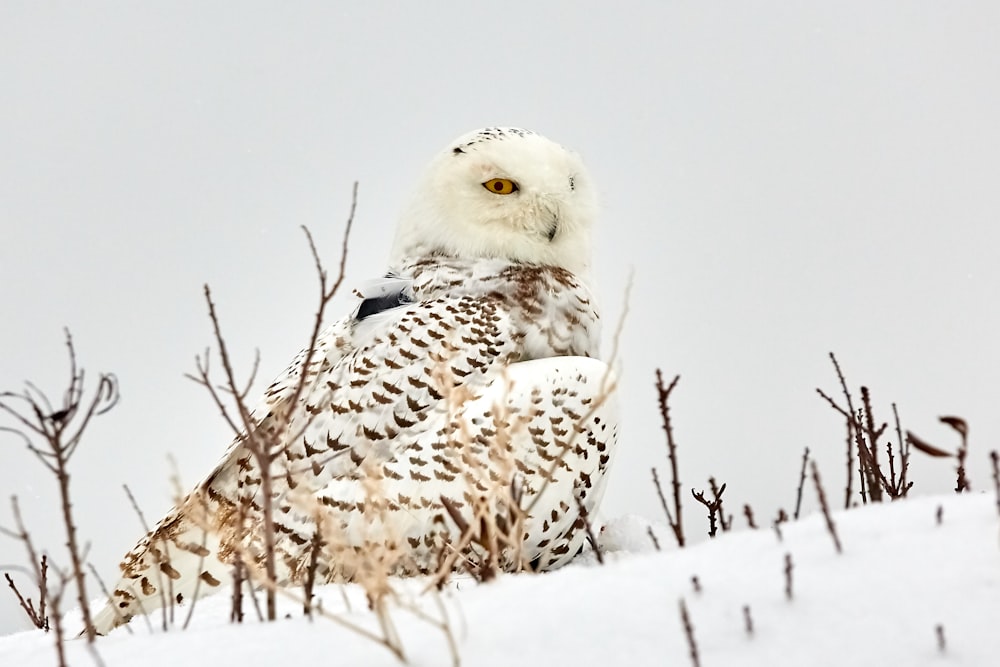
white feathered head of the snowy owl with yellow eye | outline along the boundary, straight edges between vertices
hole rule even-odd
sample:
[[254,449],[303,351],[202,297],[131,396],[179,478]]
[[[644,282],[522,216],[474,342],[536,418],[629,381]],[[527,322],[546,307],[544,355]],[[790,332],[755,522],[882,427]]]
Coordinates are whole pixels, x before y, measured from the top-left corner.
[[441,254],[586,274],[596,208],[575,153],[528,130],[476,130],[428,165],[400,220],[392,262]]

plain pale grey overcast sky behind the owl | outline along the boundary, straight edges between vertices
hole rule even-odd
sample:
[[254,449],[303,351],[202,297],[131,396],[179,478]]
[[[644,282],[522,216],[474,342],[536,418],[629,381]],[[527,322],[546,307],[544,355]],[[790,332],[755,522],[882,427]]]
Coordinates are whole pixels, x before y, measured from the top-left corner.
[[[174,471],[187,489],[230,439],[183,377],[212,342],[202,285],[243,367],[259,348],[262,390],[315,309],[299,225],[333,267],[360,181],[348,283],[381,274],[423,165],[493,124],[588,163],[608,350],[634,273],[607,514],[661,517],[656,367],[682,375],[685,487],[714,475],[730,509],[773,517],[806,445],[842,487],[843,426],[814,392],[837,391],[831,350],[881,418],[895,401],[904,428],[953,448],[937,417],[965,417],[989,487],[1000,5],[344,4],[0,3],[0,389],[58,395],[63,326],[91,379],[117,374],[121,404],[72,462],[109,584],[142,534],[122,483],[152,521]],[[954,484],[946,462],[912,474],[921,493]],[[11,494],[65,563],[55,483],[7,438],[0,525]],[[0,565],[24,560],[0,539]],[[23,627],[0,593],[0,633]]]

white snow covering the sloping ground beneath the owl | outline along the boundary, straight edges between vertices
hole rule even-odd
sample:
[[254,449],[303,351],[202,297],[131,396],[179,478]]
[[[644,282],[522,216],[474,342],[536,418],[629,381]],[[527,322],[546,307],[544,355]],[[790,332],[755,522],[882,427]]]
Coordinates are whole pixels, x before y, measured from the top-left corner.
[[[602,533],[604,565],[581,558],[544,575],[459,580],[440,596],[422,595],[421,582],[399,581],[402,602],[391,618],[413,665],[447,665],[451,653],[439,627],[405,608],[411,603],[435,619],[447,614],[464,665],[690,665],[681,599],[706,666],[1000,664],[1000,519],[993,494],[870,505],[835,513],[834,521],[842,554],[819,514],[784,524],[780,539],[770,528],[740,529],[684,549],[657,525],[664,550],[651,552],[649,522],[622,517]],[[689,534],[702,529],[686,527]],[[793,564],[791,600],[786,554]],[[376,630],[359,589],[327,586],[320,596],[328,613]],[[288,619],[261,624],[251,611],[251,620],[233,625],[228,596],[217,595],[197,603],[187,630],[179,627],[187,612],[181,607],[168,632],[135,619],[133,634],[100,638],[97,651],[109,666],[140,659],[143,667],[400,664],[381,644],[328,618],[305,619],[292,600],[282,605]],[[79,627],[76,618],[70,614],[67,623]],[[156,616],[153,625],[159,622]],[[94,664],[83,640],[66,649],[71,665]],[[55,664],[51,635],[0,637],[0,665]]]

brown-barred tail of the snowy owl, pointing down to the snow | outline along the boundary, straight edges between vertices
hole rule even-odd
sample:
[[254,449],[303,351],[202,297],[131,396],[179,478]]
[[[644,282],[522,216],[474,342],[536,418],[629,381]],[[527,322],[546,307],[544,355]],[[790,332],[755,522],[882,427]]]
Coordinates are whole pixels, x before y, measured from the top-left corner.
[[195,514],[199,496],[189,496],[125,555],[121,579],[93,618],[98,634],[157,609],[172,618],[174,606],[208,595],[231,579],[232,566],[219,558],[218,536],[192,520],[204,514]]

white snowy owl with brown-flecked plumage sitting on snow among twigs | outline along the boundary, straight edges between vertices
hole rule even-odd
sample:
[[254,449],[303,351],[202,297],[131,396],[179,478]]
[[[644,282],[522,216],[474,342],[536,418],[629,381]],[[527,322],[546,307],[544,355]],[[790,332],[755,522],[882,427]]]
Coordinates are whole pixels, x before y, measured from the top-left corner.
[[[595,210],[580,159],[533,132],[478,130],[432,160],[389,272],[356,290],[309,366],[300,353],[253,412],[276,443],[279,585],[310,564],[321,582],[350,581],[372,559],[394,575],[490,557],[545,570],[583,548],[580,508],[600,502],[618,420],[588,285]],[[165,595],[231,586],[237,560],[259,584],[263,496],[238,437],[126,554],[97,631]],[[483,508],[520,538],[499,555],[467,539]]]

